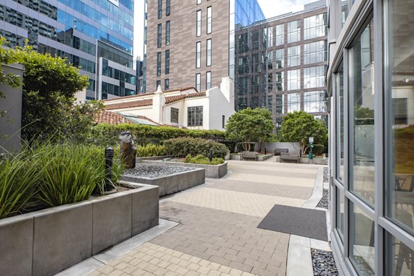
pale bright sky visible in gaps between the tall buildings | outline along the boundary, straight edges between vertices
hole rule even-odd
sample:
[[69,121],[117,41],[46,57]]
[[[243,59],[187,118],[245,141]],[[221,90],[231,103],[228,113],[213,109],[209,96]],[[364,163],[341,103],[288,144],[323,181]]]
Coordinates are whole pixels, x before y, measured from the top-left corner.
[[[264,17],[270,18],[288,12],[298,12],[304,9],[304,4],[317,0],[257,0],[259,2]],[[134,14],[134,59],[143,58],[143,41],[144,37],[144,0],[135,0]]]

